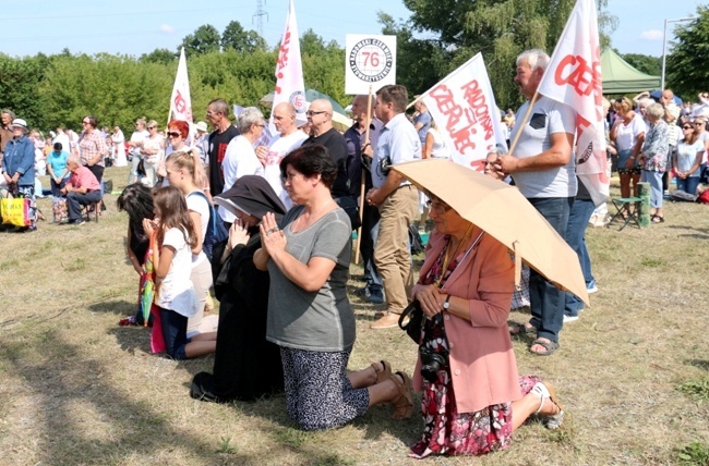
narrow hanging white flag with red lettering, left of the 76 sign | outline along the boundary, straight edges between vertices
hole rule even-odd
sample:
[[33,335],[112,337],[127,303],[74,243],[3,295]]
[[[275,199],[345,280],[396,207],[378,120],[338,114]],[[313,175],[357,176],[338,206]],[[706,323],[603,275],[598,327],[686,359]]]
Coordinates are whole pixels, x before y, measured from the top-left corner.
[[290,0],[286,29],[278,50],[276,90],[274,91],[271,121],[268,122],[271,134],[278,133],[276,126],[274,126],[273,110],[280,102],[290,102],[296,107],[296,124],[305,123],[305,85],[303,84],[303,64],[300,58],[300,38],[298,36],[293,0]]

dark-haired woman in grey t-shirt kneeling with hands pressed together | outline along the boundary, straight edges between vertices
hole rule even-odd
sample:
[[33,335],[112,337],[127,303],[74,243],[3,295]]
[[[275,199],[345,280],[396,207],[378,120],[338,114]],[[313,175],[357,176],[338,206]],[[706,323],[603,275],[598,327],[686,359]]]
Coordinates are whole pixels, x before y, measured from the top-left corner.
[[354,344],[347,299],[352,229],[329,191],[337,165],[323,146],[308,146],[283,159],[280,174],[298,206],[280,225],[264,216],[254,263],[271,274],[266,339],[280,346],[288,415],[305,430],[343,426],[385,402],[394,418],[410,417],[406,373],[392,375],[386,361],[347,373]]

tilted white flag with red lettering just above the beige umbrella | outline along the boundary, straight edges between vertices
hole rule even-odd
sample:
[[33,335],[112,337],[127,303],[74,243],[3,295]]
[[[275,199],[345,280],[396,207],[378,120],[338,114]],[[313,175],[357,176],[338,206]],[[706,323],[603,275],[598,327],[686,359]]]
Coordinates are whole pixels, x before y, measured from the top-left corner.
[[478,53],[421,97],[453,154],[453,161],[479,172],[488,152],[506,151],[502,118],[485,63]]

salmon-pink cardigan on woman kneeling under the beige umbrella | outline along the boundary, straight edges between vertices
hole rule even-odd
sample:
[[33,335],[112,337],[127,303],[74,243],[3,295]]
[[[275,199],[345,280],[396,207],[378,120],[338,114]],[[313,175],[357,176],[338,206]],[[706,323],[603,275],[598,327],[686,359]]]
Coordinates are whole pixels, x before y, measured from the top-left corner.
[[[478,237],[480,232],[476,226],[472,237]],[[420,277],[435,263],[446,243],[445,235],[436,232],[431,235]],[[514,273],[507,248],[483,234],[444,284],[443,293],[470,299],[469,321],[443,311],[458,413],[473,413],[521,397],[517,361],[507,329]],[[421,286],[413,287],[413,296]],[[417,391],[423,387],[420,372],[419,357],[413,376]]]

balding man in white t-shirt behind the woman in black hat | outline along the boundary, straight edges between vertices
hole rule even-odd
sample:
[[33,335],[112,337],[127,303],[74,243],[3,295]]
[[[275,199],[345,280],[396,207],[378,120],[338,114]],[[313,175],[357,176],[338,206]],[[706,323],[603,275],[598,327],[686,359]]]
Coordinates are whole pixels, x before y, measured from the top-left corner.
[[298,126],[296,126],[296,108],[290,102],[280,102],[276,106],[274,109],[274,126],[276,126],[278,135],[271,139],[268,147],[260,146],[256,149],[256,156],[264,165],[263,176],[274,188],[286,209],[290,209],[293,201],[290,200],[280,180],[280,161],[292,150],[299,148],[303,140],[308,139],[308,135],[302,131],[298,131]]

